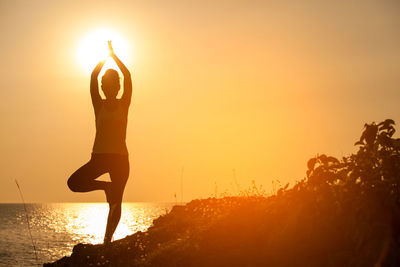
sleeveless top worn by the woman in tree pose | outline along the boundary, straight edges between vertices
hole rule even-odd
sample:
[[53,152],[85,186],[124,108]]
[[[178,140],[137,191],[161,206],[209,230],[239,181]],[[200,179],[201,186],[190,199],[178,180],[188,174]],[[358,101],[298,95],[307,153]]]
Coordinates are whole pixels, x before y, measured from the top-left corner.
[[92,153],[128,155],[125,144],[128,107],[118,101],[115,109],[107,110],[102,103],[95,116],[96,138]]

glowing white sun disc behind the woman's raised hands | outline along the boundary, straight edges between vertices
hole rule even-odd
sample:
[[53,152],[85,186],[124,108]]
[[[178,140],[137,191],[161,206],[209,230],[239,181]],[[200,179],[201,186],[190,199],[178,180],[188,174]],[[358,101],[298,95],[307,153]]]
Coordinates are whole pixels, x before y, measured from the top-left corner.
[[[97,29],[88,33],[78,46],[77,59],[86,72],[91,72],[96,64],[108,58],[107,41],[111,40],[115,53],[123,61],[129,61],[130,49],[126,40],[112,29]],[[117,69],[113,60],[107,60],[105,67]]]

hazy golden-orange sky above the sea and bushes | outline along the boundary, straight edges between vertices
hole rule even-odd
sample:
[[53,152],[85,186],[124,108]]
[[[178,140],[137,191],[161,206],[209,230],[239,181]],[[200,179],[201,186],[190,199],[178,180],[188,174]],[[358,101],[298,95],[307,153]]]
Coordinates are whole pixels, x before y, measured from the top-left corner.
[[[218,2],[218,3],[215,3]],[[398,1],[0,1],[0,202],[103,201],[66,181],[90,158],[90,73],[106,27],[133,75],[125,201],[184,201],[302,179],[400,123]],[[118,54],[118,51],[116,51]],[[107,177],[103,177],[107,179]]]

